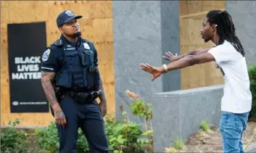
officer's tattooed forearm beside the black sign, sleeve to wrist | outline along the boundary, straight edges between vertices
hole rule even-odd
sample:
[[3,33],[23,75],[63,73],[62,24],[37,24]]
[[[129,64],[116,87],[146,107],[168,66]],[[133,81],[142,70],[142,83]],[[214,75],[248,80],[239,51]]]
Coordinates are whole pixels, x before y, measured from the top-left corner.
[[54,78],[54,73],[46,73],[41,72],[41,83],[44,88],[44,93],[46,94],[46,98],[48,99],[51,107],[54,109],[59,106],[57,101],[57,97],[54,91],[54,87],[52,86],[52,80]]

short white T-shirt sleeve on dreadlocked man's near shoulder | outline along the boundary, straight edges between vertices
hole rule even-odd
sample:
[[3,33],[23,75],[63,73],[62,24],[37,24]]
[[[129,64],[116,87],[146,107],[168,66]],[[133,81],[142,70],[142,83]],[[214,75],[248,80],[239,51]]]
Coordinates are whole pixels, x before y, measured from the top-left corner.
[[231,61],[231,54],[228,53],[228,49],[223,46],[215,46],[210,49],[208,53],[212,54],[217,64]]

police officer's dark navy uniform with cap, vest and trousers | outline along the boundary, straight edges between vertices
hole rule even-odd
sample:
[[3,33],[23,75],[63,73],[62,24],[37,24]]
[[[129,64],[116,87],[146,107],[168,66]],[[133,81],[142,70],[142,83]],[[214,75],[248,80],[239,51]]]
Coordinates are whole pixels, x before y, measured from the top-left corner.
[[[80,17],[72,12],[62,12],[57,18],[57,25]],[[104,120],[94,97],[99,95],[95,87],[100,81],[96,66],[94,44],[80,37],[73,44],[60,36],[42,56],[41,70],[56,73],[54,87],[67,120],[64,128],[57,125],[59,152],[76,152],[78,128],[86,135],[92,152],[108,152]]]

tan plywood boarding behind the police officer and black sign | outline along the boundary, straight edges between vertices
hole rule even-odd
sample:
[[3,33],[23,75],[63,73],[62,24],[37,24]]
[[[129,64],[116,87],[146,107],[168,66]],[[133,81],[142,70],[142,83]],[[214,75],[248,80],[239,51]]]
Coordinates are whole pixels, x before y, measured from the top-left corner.
[[7,23],[46,21],[47,45],[50,45],[59,38],[56,17],[65,9],[83,15],[79,20],[83,38],[96,46],[108,112],[115,115],[112,1],[1,1],[1,126],[16,118],[21,126],[45,126],[54,121],[50,112],[10,113]]

